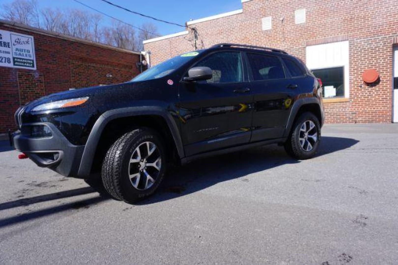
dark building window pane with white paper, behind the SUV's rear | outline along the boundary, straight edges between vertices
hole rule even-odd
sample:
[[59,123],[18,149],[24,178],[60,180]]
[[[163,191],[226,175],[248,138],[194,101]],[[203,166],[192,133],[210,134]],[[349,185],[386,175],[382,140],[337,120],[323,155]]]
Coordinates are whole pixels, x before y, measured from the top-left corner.
[[328,97],[344,97],[344,67],[312,70],[323,83],[323,95]]

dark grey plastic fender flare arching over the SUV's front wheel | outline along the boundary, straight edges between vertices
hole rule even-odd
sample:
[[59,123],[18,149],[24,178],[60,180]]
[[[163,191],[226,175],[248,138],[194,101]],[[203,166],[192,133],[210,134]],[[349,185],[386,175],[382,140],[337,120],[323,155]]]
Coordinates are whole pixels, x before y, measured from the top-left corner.
[[161,116],[167,123],[170,132],[172,133],[174,143],[177,147],[177,152],[180,158],[184,157],[184,149],[179,134],[178,125],[174,121],[172,115],[160,106],[135,106],[127,108],[117,108],[104,112],[94,124],[90,135],[88,136],[86,146],[84,147],[82,160],[78,170],[79,177],[88,177],[90,175],[94,155],[98,142],[100,141],[101,134],[105,126],[114,119],[140,116],[140,115],[156,115]]

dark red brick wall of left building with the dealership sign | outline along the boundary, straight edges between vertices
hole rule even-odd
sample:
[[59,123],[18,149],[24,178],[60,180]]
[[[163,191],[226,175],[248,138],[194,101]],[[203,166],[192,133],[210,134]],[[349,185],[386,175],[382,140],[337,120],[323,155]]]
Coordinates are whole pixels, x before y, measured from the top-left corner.
[[[20,105],[70,88],[121,83],[139,74],[139,54],[30,27],[0,22],[0,29],[31,35],[37,70],[0,67],[0,133],[15,129]],[[108,77],[107,77],[108,75]]]

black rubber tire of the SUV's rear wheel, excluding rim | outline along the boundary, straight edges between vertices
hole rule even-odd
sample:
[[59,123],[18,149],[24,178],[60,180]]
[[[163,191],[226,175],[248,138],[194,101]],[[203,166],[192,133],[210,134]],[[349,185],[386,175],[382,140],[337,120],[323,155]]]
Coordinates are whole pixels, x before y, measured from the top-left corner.
[[[318,139],[316,143],[313,145],[311,151],[305,151],[303,147],[300,145],[300,129],[301,126],[304,122],[306,121],[312,121],[315,124],[316,131],[318,133]],[[321,126],[319,123],[318,118],[311,112],[304,112],[300,114],[300,116],[297,118],[295,121],[295,124],[293,124],[293,127],[291,129],[291,132],[289,134],[289,137],[287,138],[287,141],[284,144],[286,152],[293,158],[299,159],[299,160],[305,160],[305,159],[310,159],[314,157],[316,154],[316,151],[318,151],[318,147],[321,141]]]

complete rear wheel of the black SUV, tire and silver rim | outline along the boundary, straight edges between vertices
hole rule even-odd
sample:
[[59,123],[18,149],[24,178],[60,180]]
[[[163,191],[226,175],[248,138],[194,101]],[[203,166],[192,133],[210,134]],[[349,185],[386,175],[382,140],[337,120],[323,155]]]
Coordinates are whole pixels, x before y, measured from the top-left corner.
[[312,158],[318,150],[321,131],[318,118],[311,112],[302,113],[285,143],[286,152],[300,160]]

